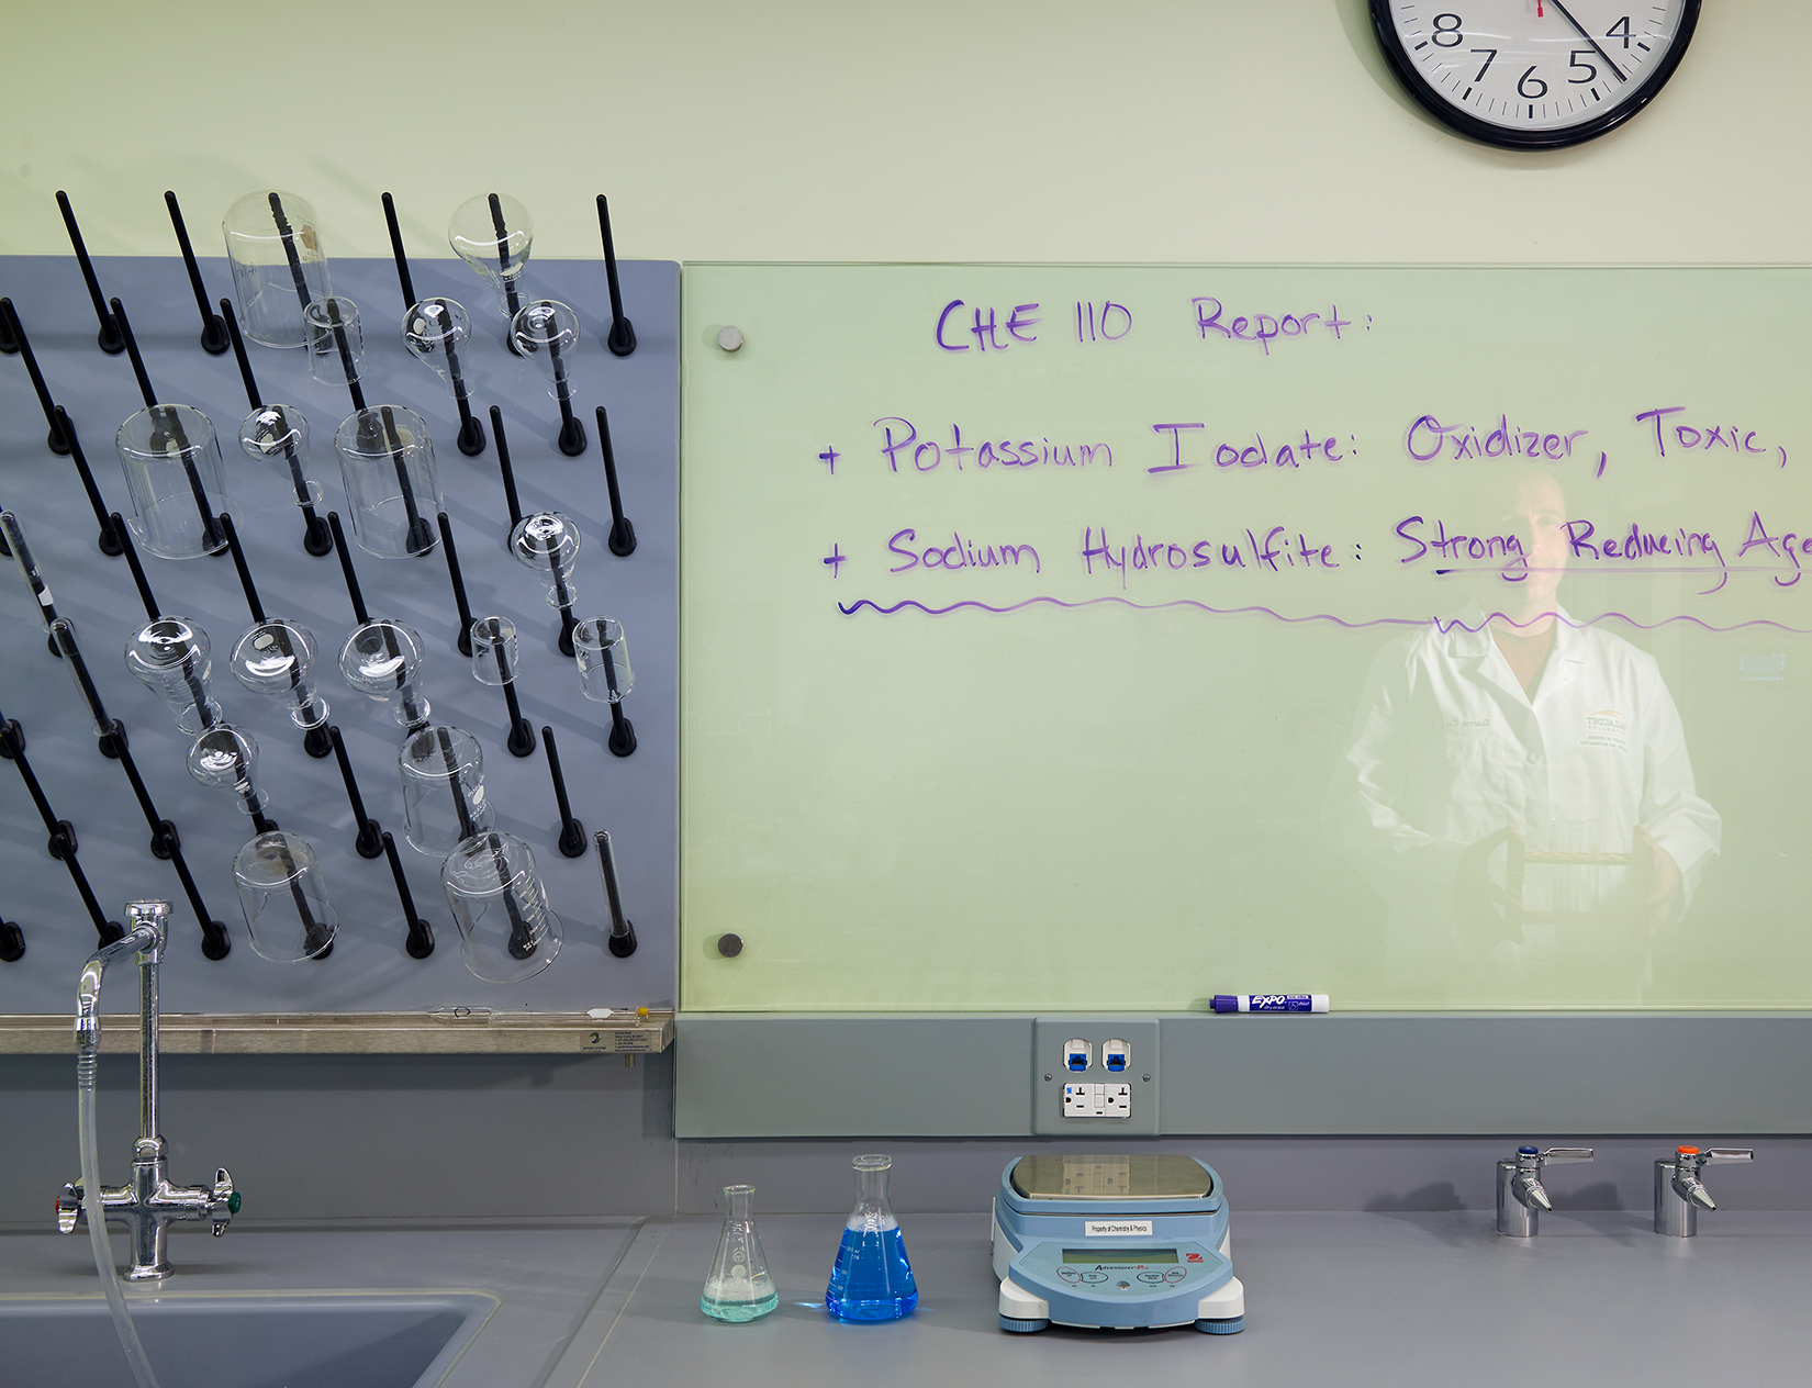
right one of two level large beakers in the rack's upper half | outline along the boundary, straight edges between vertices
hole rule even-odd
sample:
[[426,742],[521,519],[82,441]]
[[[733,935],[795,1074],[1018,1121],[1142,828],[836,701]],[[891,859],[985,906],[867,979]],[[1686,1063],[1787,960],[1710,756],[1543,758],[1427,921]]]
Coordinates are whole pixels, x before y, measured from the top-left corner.
[[439,538],[428,516],[446,506],[422,417],[400,404],[355,410],[333,431],[333,451],[359,549],[381,560],[428,554]]

